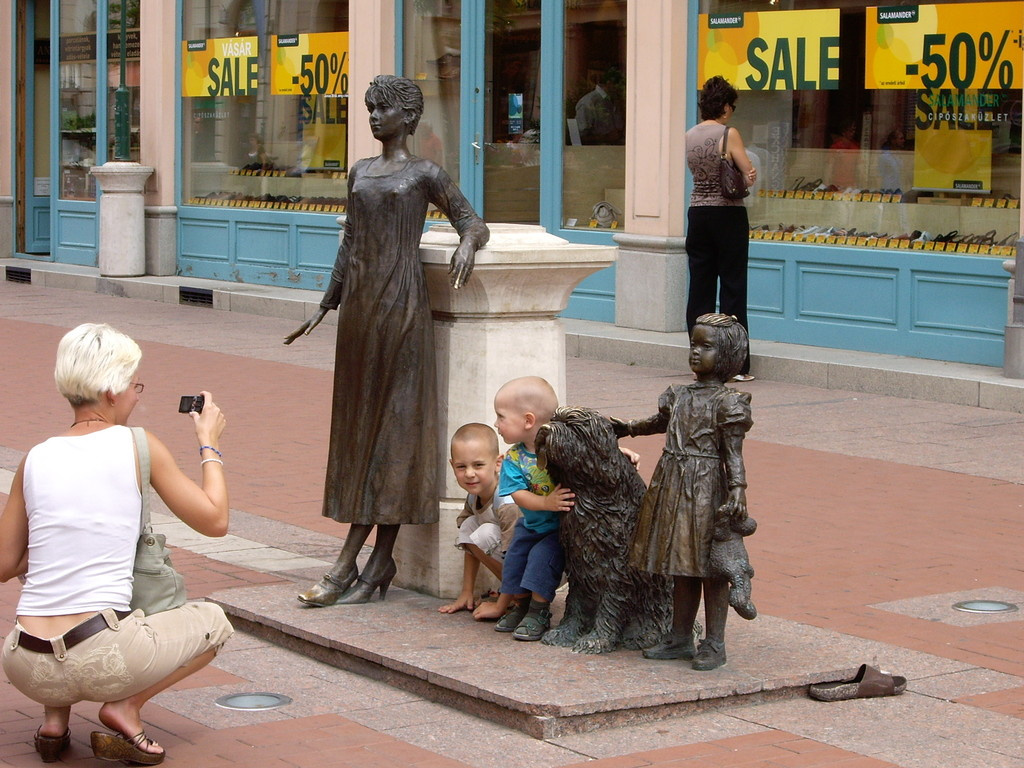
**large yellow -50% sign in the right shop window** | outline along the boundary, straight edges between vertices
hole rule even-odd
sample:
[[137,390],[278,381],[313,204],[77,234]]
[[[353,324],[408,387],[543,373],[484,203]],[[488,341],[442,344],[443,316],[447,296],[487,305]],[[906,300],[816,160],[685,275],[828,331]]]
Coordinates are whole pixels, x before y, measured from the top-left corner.
[[1024,3],[867,8],[865,88],[1020,88]]

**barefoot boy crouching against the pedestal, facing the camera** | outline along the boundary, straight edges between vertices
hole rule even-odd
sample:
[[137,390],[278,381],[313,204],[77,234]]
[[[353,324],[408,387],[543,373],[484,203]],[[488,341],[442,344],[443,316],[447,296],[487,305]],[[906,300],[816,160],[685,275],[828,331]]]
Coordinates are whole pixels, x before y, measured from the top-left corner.
[[[462,592],[455,602],[442,605],[441,613],[480,608],[473,597],[473,587],[480,563],[500,581],[502,559],[512,540],[519,508],[507,496],[498,495],[498,469],[502,456],[498,435],[486,424],[464,424],[452,437],[452,469],[459,486],[466,492],[466,506],[456,520],[459,541],[456,546],[465,552],[462,568]],[[499,599],[502,613],[508,607]],[[499,614],[500,615],[500,614]],[[477,618],[486,618],[485,613]]]

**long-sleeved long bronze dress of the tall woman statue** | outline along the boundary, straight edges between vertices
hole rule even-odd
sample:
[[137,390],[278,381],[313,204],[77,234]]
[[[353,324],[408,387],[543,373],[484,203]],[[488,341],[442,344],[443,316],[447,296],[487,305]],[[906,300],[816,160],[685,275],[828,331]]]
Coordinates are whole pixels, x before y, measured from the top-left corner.
[[391,525],[437,521],[440,434],[434,335],[419,244],[427,205],[460,236],[483,221],[443,169],[411,158],[348,176],[348,216],[321,306],[338,308],[324,515]]

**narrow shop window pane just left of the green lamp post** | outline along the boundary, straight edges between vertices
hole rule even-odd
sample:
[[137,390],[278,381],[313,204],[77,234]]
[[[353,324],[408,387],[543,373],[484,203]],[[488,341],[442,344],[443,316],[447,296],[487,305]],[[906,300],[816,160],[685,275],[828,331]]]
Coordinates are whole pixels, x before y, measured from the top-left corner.
[[96,0],[60,3],[60,197],[95,200]]

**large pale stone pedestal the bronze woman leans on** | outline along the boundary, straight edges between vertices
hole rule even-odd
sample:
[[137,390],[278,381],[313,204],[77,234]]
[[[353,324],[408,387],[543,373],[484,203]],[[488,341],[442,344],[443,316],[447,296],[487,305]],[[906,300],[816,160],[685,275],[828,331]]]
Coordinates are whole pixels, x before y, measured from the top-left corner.
[[452,435],[468,422],[494,424],[495,393],[518,376],[547,379],[565,401],[565,334],[557,315],[584,278],[615,260],[614,247],[568,243],[542,226],[489,226],[490,242],[459,291],[447,274],[455,229],[437,225],[421,241],[437,347],[440,521],[401,527],[395,584],[432,595],[454,596],[462,586],[463,553],[454,544],[465,492],[447,464]]

